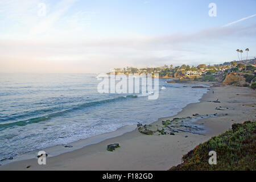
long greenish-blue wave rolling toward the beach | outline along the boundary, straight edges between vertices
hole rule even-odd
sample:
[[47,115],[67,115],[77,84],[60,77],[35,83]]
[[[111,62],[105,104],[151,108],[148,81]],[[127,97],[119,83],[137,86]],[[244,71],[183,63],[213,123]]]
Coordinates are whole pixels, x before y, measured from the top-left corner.
[[[36,118],[30,118],[30,119],[26,119],[23,121],[17,121],[17,122],[11,122],[11,123],[4,123],[4,124],[0,124],[0,131],[4,130],[8,127],[13,127],[13,126],[25,126],[31,123],[38,123],[38,122],[42,122],[42,121],[47,121],[53,117],[57,117],[60,116],[64,113],[68,113],[74,110],[79,110],[79,109],[84,109],[86,107],[90,107],[90,106],[96,106],[96,105],[101,105],[101,104],[106,104],[109,102],[115,102],[115,101],[119,101],[119,100],[125,100],[126,98],[137,98],[138,96],[134,96],[134,95],[129,95],[129,96],[119,96],[117,98],[111,98],[111,99],[107,99],[107,100],[101,100],[101,101],[94,101],[94,102],[87,102],[84,104],[80,104],[80,105],[76,105],[72,108],[69,109],[65,109],[65,110],[61,110],[61,111],[57,111],[55,113],[51,113],[51,114],[47,114],[47,115],[42,115],[40,117],[36,117]],[[38,111],[42,111],[42,110],[38,110]],[[32,113],[35,113],[36,111],[32,111]],[[28,114],[24,114],[24,115],[28,115]],[[19,115],[15,118],[18,117],[24,117],[24,115]]]

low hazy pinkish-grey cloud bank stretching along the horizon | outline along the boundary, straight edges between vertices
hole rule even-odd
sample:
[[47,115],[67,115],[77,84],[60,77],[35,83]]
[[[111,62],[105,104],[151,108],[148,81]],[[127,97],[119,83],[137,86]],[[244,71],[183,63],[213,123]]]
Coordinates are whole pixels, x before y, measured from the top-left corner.
[[[0,72],[23,70],[99,73],[124,66],[153,67],[181,63],[197,65],[216,63],[216,60],[221,63],[226,57],[230,57],[226,54],[226,42],[234,44],[234,38],[250,38],[255,33],[256,24],[236,28],[210,28],[193,34],[164,36],[108,39],[79,37],[77,39],[2,39]],[[239,44],[241,45],[241,42]],[[237,56],[236,53],[234,56]],[[15,61],[18,64],[15,64]]]

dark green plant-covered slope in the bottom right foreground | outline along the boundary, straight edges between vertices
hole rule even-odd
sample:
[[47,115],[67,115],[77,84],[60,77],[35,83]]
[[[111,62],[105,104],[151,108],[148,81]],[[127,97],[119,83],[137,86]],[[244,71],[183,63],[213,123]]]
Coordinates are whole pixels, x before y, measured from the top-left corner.
[[[232,125],[232,130],[213,137],[183,156],[177,170],[256,170],[256,122]],[[209,152],[216,151],[217,164],[210,165]]]

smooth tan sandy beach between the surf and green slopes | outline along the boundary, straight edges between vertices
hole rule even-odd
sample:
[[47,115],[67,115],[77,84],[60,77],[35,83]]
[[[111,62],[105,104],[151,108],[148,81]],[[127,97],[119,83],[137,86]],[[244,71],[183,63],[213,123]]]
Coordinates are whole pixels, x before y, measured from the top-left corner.
[[[211,82],[197,84],[213,85]],[[175,135],[144,135],[134,130],[119,137],[49,157],[46,165],[40,166],[35,157],[0,166],[0,170],[167,170],[180,164],[182,156],[198,144],[231,129],[233,123],[255,121],[255,93],[255,90],[245,87],[211,87],[199,103],[189,104],[177,115],[159,118],[152,123],[161,125],[167,119],[192,117],[193,114],[220,114],[218,117],[197,121],[207,128],[205,135],[185,132]],[[209,102],[217,99],[220,103]],[[222,109],[216,110],[216,107]],[[121,147],[109,152],[106,146],[112,143],[119,143]]]

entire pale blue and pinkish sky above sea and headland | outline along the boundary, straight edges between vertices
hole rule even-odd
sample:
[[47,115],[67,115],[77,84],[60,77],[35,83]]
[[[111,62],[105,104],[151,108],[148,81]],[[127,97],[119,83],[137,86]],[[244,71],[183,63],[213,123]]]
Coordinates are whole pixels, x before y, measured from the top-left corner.
[[238,60],[236,49],[246,59],[246,48],[251,59],[255,7],[255,0],[0,0],[0,72],[212,65]]

